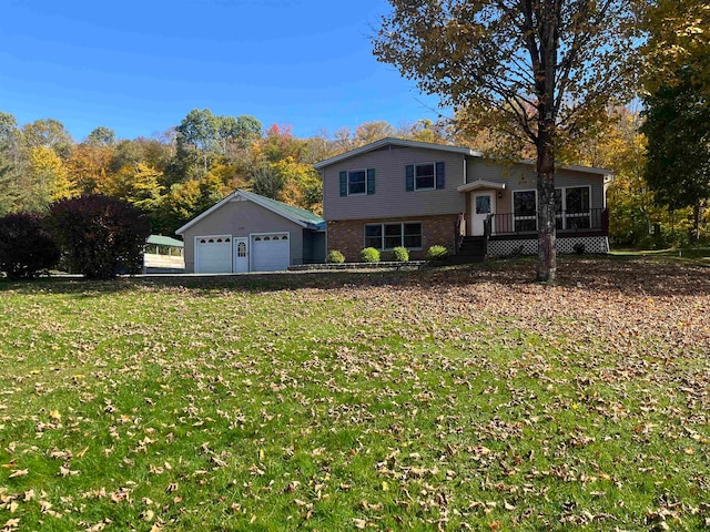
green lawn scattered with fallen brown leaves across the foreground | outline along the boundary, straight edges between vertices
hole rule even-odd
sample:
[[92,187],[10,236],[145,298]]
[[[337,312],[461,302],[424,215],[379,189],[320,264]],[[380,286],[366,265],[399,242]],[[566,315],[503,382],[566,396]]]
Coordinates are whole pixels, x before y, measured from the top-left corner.
[[0,284],[2,530],[704,530],[710,268]]

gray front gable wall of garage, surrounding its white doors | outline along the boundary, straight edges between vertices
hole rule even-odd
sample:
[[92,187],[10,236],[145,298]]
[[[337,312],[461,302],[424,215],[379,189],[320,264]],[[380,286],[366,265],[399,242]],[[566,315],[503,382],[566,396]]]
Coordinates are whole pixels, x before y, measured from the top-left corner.
[[247,200],[237,198],[217,208],[189,227],[185,243],[185,272],[195,270],[195,236],[232,235],[248,237],[255,233],[288,232],[291,264],[303,264],[303,227]]

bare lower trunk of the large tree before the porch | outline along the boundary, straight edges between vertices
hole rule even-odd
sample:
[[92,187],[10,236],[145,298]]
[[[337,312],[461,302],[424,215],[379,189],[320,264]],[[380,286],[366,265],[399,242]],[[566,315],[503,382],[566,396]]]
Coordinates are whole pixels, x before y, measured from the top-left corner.
[[537,280],[549,282],[557,276],[555,152],[550,130],[541,123],[537,145]]

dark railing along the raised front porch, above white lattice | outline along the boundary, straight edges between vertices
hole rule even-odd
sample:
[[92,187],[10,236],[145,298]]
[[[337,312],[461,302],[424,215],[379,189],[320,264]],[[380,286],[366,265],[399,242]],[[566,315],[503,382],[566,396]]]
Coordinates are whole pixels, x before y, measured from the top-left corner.
[[[493,214],[490,215],[491,235],[511,235],[537,232],[537,215]],[[560,211],[556,215],[558,233],[608,233],[609,213],[606,208],[591,208],[586,212]]]

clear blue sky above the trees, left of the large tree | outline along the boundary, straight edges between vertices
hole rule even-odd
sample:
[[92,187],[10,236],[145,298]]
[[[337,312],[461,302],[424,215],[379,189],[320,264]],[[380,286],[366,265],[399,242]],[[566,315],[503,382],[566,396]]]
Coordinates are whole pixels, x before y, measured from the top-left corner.
[[165,131],[192,109],[250,114],[297,136],[437,119],[372,54],[385,0],[3,0],[0,111],[82,140]]

